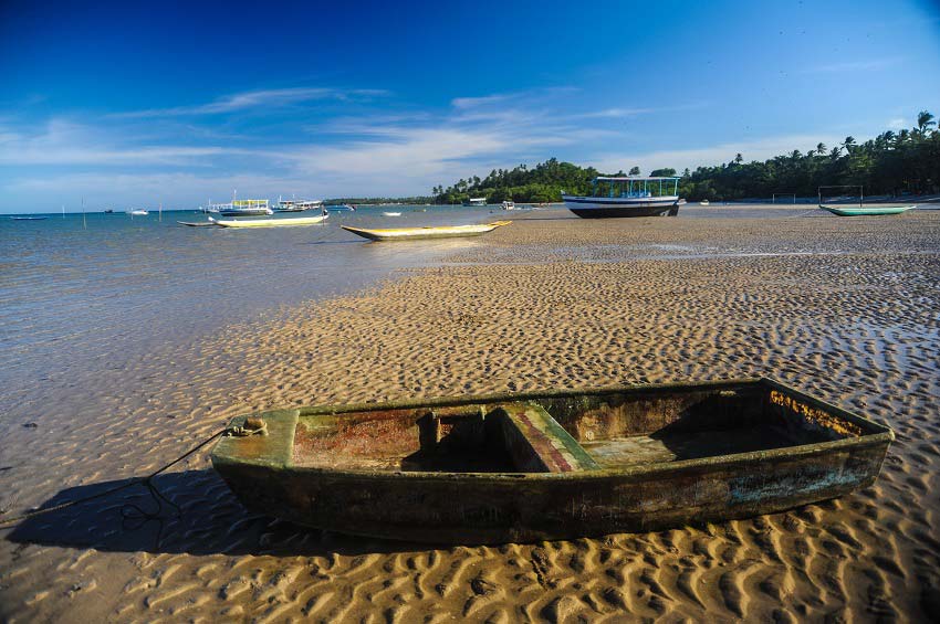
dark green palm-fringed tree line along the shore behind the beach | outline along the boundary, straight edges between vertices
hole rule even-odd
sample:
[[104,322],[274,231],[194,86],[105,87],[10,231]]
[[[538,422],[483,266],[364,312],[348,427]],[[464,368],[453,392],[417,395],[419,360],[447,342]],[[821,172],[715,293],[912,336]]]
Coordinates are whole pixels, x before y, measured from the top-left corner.
[[[634,167],[630,174],[638,174]],[[657,169],[650,176],[672,176],[675,169]],[[436,203],[460,203],[471,197],[485,197],[491,203],[560,201],[561,191],[586,194],[591,180],[600,173],[551,158],[528,168],[498,169],[484,179],[459,180],[452,187],[435,187]],[[773,193],[815,197],[821,186],[861,184],[865,193],[913,194],[940,192],[940,130],[933,115],[922,110],[917,126],[897,133],[888,130],[864,144],[846,137],[828,148],[822,142],[806,154],[800,150],[764,162],[744,162],[738,154],[727,165],[699,167],[682,173],[679,193],[690,201],[766,199]]]

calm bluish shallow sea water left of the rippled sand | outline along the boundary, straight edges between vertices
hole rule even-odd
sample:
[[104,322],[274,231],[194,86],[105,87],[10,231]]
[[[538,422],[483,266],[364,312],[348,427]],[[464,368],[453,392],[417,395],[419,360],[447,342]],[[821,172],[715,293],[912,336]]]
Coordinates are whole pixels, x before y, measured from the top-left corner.
[[[489,209],[361,208],[305,228],[185,228],[206,215],[0,215],[0,408],[73,371],[119,369],[167,340],[196,338],[283,306],[432,263],[473,239],[368,243],[338,224],[479,223]],[[401,216],[384,216],[400,211]],[[288,215],[289,216],[289,215]],[[4,399],[6,398],[6,399]],[[0,411],[2,413],[2,411]],[[0,415],[0,417],[2,417]]]

